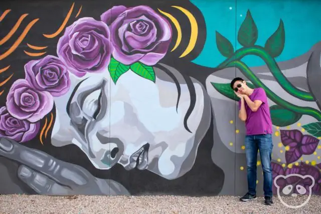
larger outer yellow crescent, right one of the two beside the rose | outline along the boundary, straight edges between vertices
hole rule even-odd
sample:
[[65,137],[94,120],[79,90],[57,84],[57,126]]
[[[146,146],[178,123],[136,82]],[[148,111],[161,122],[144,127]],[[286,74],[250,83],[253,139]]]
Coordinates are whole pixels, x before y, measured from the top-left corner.
[[198,25],[196,22],[195,17],[191,14],[191,12],[189,12],[188,10],[179,7],[179,6],[172,6],[173,8],[177,8],[180,11],[182,11],[188,18],[191,24],[191,38],[190,38],[190,43],[188,44],[186,50],[183,52],[183,54],[180,56],[180,58],[185,57],[186,55],[188,55],[193,48],[195,47],[196,44],[196,40],[197,40],[197,36],[198,36]]

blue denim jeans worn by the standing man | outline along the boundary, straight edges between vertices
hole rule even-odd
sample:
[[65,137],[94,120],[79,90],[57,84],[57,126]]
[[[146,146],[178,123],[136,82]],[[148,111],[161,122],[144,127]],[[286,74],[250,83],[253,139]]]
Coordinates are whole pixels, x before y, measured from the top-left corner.
[[264,196],[272,196],[272,168],[271,154],[273,148],[271,134],[246,135],[246,162],[248,192],[256,194],[256,163],[257,151],[260,151],[261,164],[263,168],[263,190]]

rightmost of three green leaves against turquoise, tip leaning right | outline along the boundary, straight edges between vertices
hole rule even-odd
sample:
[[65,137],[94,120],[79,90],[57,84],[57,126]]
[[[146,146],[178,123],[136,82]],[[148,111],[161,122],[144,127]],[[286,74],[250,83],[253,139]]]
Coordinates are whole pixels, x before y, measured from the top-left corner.
[[283,21],[280,20],[279,27],[267,39],[264,48],[272,57],[278,57],[284,49],[284,43],[285,43],[284,25],[283,25]]

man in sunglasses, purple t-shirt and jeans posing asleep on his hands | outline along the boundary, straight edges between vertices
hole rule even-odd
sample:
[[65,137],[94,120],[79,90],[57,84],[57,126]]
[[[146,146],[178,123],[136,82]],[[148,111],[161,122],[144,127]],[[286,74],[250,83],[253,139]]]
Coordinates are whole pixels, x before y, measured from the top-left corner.
[[259,150],[264,177],[264,202],[271,205],[273,204],[271,168],[273,148],[272,121],[265,91],[262,88],[249,88],[240,77],[232,80],[231,88],[240,98],[239,118],[245,121],[246,126],[245,148],[248,192],[240,200],[248,201],[256,199],[256,163],[257,152]]

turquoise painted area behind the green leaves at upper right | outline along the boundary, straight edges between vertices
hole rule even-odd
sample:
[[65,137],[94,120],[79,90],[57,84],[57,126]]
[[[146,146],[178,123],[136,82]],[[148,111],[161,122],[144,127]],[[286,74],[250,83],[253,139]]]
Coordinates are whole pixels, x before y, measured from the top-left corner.
[[[290,60],[306,53],[321,39],[321,0],[190,0],[203,13],[207,28],[207,39],[202,53],[194,63],[216,67],[226,58],[216,46],[215,32],[226,37],[235,49],[236,33],[250,10],[258,28],[256,45],[264,47],[266,40],[277,29],[280,19],[284,23],[285,47],[277,62]],[[236,6],[236,7],[235,7]],[[230,10],[230,7],[232,10]],[[236,22],[236,29],[235,29]],[[241,48],[239,43],[237,49]],[[255,56],[247,56],[243,61],[250,67],[263,65]]]

